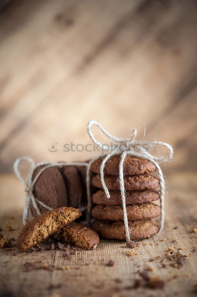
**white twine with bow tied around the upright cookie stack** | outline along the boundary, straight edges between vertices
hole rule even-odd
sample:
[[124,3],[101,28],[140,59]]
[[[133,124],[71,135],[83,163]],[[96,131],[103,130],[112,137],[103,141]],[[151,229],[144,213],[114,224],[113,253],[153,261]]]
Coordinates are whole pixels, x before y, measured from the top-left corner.
[[[109,132],[107,132],[97,121],[95,120],[90,120],[88,125],[87,125],[87,133],[91,140],[99,146],[103,150],[108,150],[109,145],[106,145],[98,140],[95,139],[91,127],[92,125],[96,125],[101,132],[103,132],[111,141],[115,141],[118,143],[118,145],[114,146],[111,144],[110,146],[110,153],[106,154],[102,160],[102,163],[100,165],[100,178],[102,182],[102,187],[105,191],[105,194],[107,198],[110,198],[110,193],[108,191],[108,188],[106,187],[105,181],[104,181],[104,169],[105,169],[105,163],[108,161],[108,159],[114,155],[120,155],[120,162],[119,162],[119,184],[120,184],[120,192],[121,192],[121,198],[122,198],[122,207],[123,207],[123,213],[124,213],[124,225],[125,225],[125,231],[126,231],[126,241],[130,241],[130,232],[129,232],[129,225],[128,225],[128,218],[127,218],[127,213],[126,213],[126,195],[125,195],[125,189],[124,189],[124,170],[123,170],[123,165],[124,161],[127,155],[132,155],[134,157],[139,157],[142,159],[149,160],[152,162],[156,168],[158,169],[158,178],[159,178],[159,184],[160,184],[160,206],[161,206],[161,220],[160,220],[160,228],[159,232],[163,229],[164,227],[164,216],[165,216],[165,211],[164,211],[164,196],[165,196],[165,181],[164,181],[164,176],[162,173],[162,170],[158,164],[158,162],[169,162],[172,159],[173,156],[173,149],[172,146],[169,145],[168,143],[161,142],[161,141],[152,141],[152,142],[145,142],[145,141],[135,141],[136,136],[137,136],[137,130],[133,129],[132,130],[132,135],[129,138],[118,138],[114,135],[111,135]],[[168,150],[168,154],[166,156],[160,155],[159,157],[151,155],[148,151],[141,151],[141,152],[136,152],[131,149],[133,145],[141,145],[141,144],[148,144],[150,149],[154,149],[155,146],[161,147],[164,146]],[[125,150],[123,151],[121,148],[124,148]],[[101,155],[101,157],[103,157]],[[92,207],[92,201],[91,201],[91,192],[90,192],[90,168],[91,164],[98,159],[98,157],[92,159],[88,166],[87,166],[87,218],[90,217],[90,212],[91,212],[91,207]]]

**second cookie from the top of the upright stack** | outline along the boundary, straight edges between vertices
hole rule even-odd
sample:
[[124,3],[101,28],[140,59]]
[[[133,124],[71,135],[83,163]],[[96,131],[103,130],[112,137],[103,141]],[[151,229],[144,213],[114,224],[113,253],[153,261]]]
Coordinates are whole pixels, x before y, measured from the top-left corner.
[[[105,175],[104,181],[106,187],[110,190],[119,190],[120,185],[117,176]],[[92,178],[93,186],[102,189],[102,183],[100,176],[95,175]],[[143,190],[154,189],[159,186],[158,178],[149,174],[124,176],[124,188],[125,190]]]

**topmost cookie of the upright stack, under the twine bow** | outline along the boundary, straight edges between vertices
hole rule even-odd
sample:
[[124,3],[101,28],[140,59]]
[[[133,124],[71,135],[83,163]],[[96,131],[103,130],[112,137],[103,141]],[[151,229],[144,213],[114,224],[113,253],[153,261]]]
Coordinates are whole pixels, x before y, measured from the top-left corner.
[[[91,170],[94,173],[100,174],[100,165],[102,163],[102,158],[95,160],[91,165]],[[105,163],[105,174],[106,175],[119,175],[119,163],[120,155],[113,156]],[[125,175],[134,175],[134,174],[143,174],[154,172],[156,167],[153,163],[148,160],[126,156],[124,165],[124,174]]]

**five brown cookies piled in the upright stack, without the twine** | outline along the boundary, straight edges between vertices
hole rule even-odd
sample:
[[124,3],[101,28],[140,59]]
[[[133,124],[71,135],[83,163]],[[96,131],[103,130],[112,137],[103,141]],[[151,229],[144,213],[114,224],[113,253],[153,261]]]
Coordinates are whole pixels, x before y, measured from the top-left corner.
[[[96,205],[92,208],[92,217],[96,218],[93,229],[102,238],[126,239],[122,199],[118,181],[120,156],[113,156],[105,163],[104,181],[109,189],[110,198],[102,189],[100,165],[102,158],[91,165],[91,170],[97,173],[92,178],[92,185],[99,188],[92,196]],[[161,213],[158,205],[152,201],[159,199],[159,180],[151,172],[156,167],[148,160],[127,156],[123,165],[124,188],[126,192],[126,211],[129,221],[131,240],[148,238],[158,232],[154,219]]]

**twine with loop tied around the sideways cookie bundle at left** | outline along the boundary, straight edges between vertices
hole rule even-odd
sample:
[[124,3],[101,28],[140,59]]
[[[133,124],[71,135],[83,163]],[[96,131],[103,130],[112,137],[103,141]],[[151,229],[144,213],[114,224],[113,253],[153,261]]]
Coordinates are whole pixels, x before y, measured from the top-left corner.
[[[24,178],[21,176],[20,170],[18,168],[19,163],[21,161],[28,161],[31,164],[29,172],[28,172],[27,181],[25,181]],[[39,173],[36,174],[35,178],[32,179],[33,171],[41,165],[46,165],[46,166],[44,166],[39,171]],[[86,162],[84,162],[84,163],[82,163],[82,162],[58,162],[58,163],[57,162],[40,162],[35,165],[33,159],[31,159],[30,157],[20,157],[20,158],[16,159],[16,161],[14,162],[14,171],[15,171],[16,176],[22,181],[22,183],[25,186],[25,206],[23,209],[23,224],[24,225],[27,224],[27,221],[28,221],[29,206],[30,206],[31,202],[32,202],[33,207],[35,208],[38,215],[41,212],[39,210],[37,203],[41,204],[48,210],[53,209],[53,208],[49,207],[48,205],[46,205],[45,203],[43,203],[42,201],[40,201],[39,199],[35,198],[33,195],[33,187],[34,187],[36,181],[38,180],[39,176],[47,168],[54,167],[54,166],[62,168],[63,166],[69,166],[69,165],[88,166],[88,163],[86,163]]]

